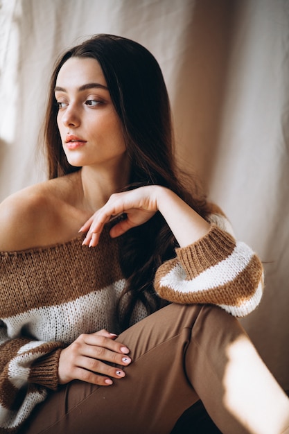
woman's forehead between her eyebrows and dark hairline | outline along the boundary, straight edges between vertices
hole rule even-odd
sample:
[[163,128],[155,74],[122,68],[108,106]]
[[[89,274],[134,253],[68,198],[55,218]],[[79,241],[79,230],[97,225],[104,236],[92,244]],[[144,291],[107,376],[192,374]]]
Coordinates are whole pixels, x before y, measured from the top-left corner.
[[70,58],[60,68],[56,85],[80,87],[87,83],[106,86],[103,70],[97,60],[91,58]]

